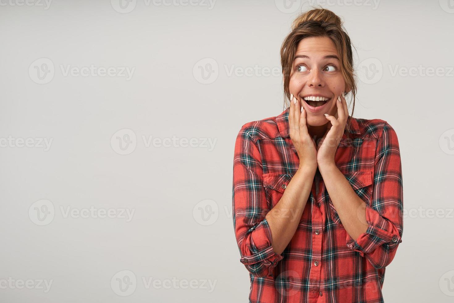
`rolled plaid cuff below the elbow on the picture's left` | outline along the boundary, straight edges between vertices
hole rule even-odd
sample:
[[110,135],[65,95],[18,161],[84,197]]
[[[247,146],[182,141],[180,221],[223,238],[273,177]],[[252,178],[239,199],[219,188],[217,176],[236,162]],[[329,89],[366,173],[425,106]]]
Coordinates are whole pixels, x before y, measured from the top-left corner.
[[[252,231],[254,231],[252,233]],[[242,256],[240,262],[246,265],[262,262],[269,269],[274,268],[277,262],[284,257],[274,252],[271,246],[271,228],[268,221],[263,219],[259,224],[253,226],[248,233],[251,234],[251,256]]]

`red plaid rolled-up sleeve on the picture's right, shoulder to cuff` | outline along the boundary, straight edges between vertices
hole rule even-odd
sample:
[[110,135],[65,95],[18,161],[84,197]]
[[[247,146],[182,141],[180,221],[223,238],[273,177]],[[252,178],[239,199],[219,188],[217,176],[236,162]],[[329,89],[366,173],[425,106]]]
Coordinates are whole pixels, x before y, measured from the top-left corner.
[[403,232],[402,164],[395,130],[385,122],[377,142],[370,205],[366,204],[365,233],[355,240],[347,233],[347,247],[367,258],[375,268],[393,260]]

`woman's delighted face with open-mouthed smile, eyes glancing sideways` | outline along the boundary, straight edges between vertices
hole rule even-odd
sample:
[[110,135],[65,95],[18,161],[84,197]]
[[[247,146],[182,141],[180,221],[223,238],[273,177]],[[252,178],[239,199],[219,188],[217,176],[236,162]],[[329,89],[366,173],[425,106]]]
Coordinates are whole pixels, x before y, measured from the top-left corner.
[[[335,101],[345,90],[340,67],[336,46],[330,38],[307,37],[298,43],[289,89],[302,102],[308,125],[328,123],[325,113],[336,116]],[[316,101],[316,97],[321,100]]]

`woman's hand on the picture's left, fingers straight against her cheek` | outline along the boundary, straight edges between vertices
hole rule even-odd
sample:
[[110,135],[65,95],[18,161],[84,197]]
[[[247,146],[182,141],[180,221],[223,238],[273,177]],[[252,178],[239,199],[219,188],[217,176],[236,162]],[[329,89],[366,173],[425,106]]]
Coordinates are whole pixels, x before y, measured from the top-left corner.
[[290,95],[288,123],[291,141],[293,142],[293,145],[295,145],[296,152],[300,158],[300,168],[316,169],[316,143],[307,131],[306,111],[302,109],[300,101],[296,99],[293,94]]

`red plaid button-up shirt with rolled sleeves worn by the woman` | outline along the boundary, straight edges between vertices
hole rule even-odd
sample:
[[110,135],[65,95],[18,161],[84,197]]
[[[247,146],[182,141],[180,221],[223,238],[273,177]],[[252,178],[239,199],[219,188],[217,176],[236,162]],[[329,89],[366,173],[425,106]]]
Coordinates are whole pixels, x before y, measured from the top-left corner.
[[356,239],[346,233],[317,169],[296,232],[276,254],[265,215],[299,166],[288,113],[244,124],[235,143],[233,225],[251,280],[249,302],[383,302],[385,267],[403,231],[394,129],[384,120],[349,116],[336,150],[337,168],[366,203],[367,231]]

